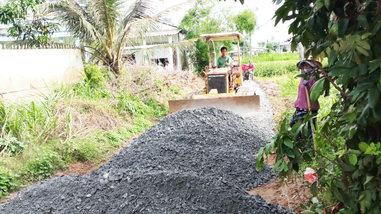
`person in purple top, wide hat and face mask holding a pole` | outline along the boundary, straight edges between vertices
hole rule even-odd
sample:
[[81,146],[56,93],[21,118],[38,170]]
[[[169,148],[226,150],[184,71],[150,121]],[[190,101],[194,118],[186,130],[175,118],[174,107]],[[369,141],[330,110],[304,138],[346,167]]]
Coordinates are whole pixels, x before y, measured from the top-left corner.
[[[322,64],[320,62],[318,62],[318,61],[315,61],[315,62],[317,62],[320,65],[320,67],[322,66]],[[301,78],[301,80],[300,80],[299,90],[298,90],[298,98],[296,98],[296,101],[294,104],[296,110],[295,110],[294,115],[291,118],[291,122],[290,122],[291,127],[295,123],[303,121],[304,116],[309,112],[307,94],[306,94],[305,88],[307,88],[309,93],[311,93],[311,88],[316,82],[314,80],[314,77],[312,77],[312,75],[317,70],[317,66],[312,60],[300,61],[300,62],[298,62],[298,64],[296,64],[296,67],[298,67],[299,69],[302,70],[302,74],[309,75],[309,76],[311,76],[311,78],[309,80],[304,80],[304,78]],[[311,95],[311,94],[309,94],[309,95]],[[311,96],[309,96],[309,97],[311,97]],[[311,109],[312,109],[311,112],[313,114],[317,113],[319,108],[320,108],[320,105],[319,105],[318,101],[316,101],[315,103],[311,103]],[[312,121],[313,121],[314,127],[316,129],[315,118]],[[308,122],[308,135],[309,135],[309,139],[312,140],[312,130],[311,130],[311,122],[310,121]]]

